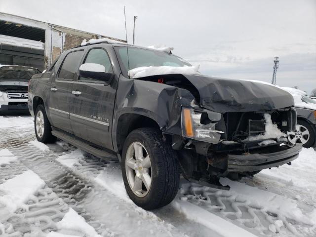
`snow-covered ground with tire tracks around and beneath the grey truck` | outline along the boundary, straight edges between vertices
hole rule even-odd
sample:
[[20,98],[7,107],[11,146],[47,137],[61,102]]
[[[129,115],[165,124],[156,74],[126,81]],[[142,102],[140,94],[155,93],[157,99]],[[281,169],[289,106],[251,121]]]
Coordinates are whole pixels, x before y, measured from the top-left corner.
[[231,190],[181,181],[169,205],[145,211],[127,196],[120,164],[63,141],[35,141],[31,117],[0,117],[2,237],[316,236],[316,151]]

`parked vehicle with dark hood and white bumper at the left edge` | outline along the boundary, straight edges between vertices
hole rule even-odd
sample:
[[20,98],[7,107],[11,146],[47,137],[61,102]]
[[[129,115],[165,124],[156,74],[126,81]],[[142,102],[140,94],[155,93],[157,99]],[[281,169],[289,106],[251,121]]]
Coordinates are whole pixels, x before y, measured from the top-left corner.
[[24,66],[0,66],[0,114],[29,112],[28,83],[37,68]]

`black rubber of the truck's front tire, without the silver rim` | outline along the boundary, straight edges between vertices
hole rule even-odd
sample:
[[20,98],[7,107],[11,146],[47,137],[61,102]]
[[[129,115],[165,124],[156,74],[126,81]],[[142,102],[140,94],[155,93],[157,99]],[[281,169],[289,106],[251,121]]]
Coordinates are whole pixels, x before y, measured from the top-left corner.
[[[150,157],[152,181],[145,197],[135,195],[127,180],[126,153],[134,142],[141,143]],[[180,179],[177,155],[171,145],[163,141],[158,129],[139,128],[132,131],[124,142],[121,166],[126,192],[136,205],[152,210],[167,205],[176,196]]]

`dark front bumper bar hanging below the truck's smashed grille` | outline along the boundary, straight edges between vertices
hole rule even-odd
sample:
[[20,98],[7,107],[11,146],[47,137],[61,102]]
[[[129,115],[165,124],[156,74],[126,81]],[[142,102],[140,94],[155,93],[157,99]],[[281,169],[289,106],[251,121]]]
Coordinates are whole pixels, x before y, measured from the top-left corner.
[[294,145],[286,150],[267,154],[228,155],[228,172],[252,172],[277,167],[298,158],[302,146]]

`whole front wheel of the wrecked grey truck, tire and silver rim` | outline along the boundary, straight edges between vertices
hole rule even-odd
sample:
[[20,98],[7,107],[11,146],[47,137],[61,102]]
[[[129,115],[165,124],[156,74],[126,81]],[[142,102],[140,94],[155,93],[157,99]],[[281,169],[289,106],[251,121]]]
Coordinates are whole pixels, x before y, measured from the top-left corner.
[[136,205],[151,210],[176,196],[180,179],[176,153],[158,129],[132,131],[124,143],[121,165],[126,192]]

